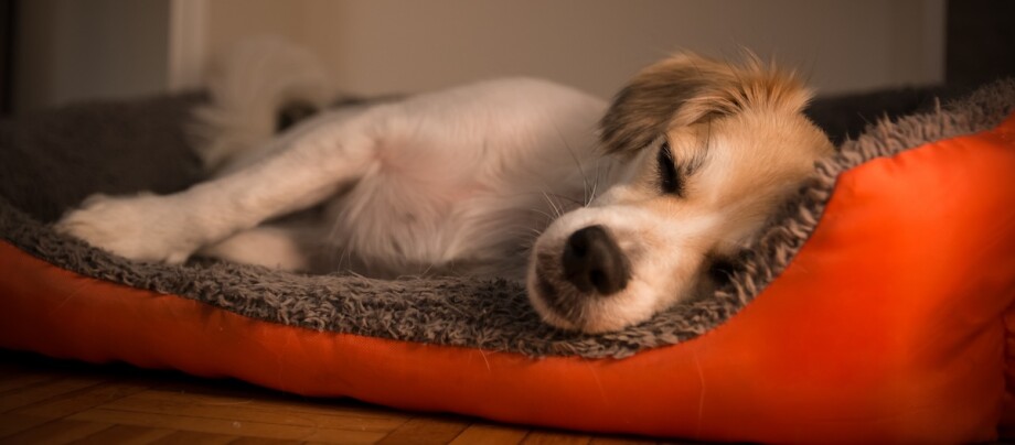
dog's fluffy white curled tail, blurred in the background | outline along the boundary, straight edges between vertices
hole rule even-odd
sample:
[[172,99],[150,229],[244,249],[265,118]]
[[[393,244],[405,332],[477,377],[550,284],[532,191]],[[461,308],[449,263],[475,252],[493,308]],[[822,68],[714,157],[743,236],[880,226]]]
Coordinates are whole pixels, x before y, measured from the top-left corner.
[[209,72],[210,104],[195,111],[196,153],[212,170],[324,108],[334,91],[308,51],[277,39],[248,40]]

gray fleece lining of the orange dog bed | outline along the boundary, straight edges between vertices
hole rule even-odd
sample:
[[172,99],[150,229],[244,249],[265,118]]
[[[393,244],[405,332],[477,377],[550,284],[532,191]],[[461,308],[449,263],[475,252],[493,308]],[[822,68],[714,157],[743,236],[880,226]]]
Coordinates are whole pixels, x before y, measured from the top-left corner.
[[[1015,80],[984,86],[923,113],[882,119],[822,162],[814,180],[769,223],[728,285],[624,330],[585,335],[543,323],[520,283],[456,276],[371,280],[306,275],[214,261],[139,263],[53,232],[52,221],[92,193],[171,193],[200,181],[185,138],[200,95],[83,104],[0,123],[0,236],[60,268],[202,301],[237,314],[316,330],[525,354],[626,357],[693,338],[757,296],[819,224],[837,175],[876,156],[990,129],[1015,108]],[[921,99],[926,101],[925,99]],[[855,108],[819,102],[822,123]],[[868,107],[869,108],[869,107]],[[891,110],[885,110],[891,113]],[[870,116],[876,119],[877,115]],[[833,134],[833,138],[842,134]]]

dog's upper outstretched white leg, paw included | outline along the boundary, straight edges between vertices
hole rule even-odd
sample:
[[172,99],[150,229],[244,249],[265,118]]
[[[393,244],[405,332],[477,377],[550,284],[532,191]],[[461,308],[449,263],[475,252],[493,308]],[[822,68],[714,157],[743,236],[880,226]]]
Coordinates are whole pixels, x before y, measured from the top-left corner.
[[368,171],[374,144],[349,127],[318,129],[271,158],[177,194],[93,196],[56,229],[126,258],[182,262],[206,245],[318,204]]

